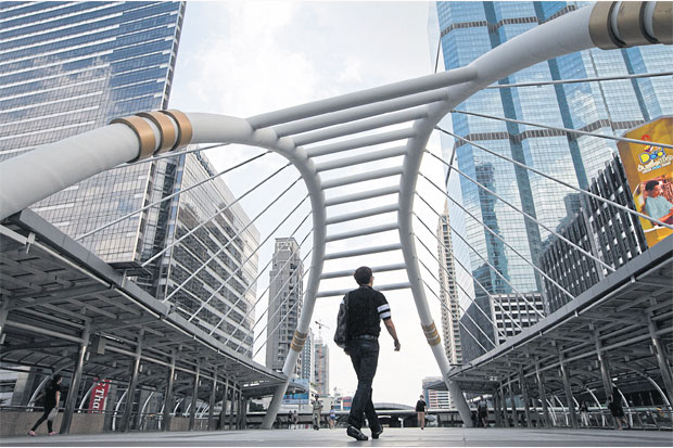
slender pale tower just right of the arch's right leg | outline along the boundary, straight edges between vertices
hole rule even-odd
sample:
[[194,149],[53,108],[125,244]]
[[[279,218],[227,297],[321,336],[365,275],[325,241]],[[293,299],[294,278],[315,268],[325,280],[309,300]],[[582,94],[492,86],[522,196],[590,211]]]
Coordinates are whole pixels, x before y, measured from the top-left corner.
[[437,255],[442,263],[440,266],[440,299],[442,300],[442,335],[444,336],[444,351],[452,364],[462,363],[460,348],[460,307],[458,306],[458,289],[456,287],[456,269],[454,265],[454,251],[448,227],[448,204],[444,204],[444,213],[437,222]]

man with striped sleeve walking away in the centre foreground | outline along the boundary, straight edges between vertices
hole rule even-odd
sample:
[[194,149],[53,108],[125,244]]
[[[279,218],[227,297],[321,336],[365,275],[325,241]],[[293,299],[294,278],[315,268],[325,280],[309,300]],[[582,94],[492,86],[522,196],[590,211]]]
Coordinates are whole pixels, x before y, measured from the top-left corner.
[[351,356],[357,374],[357,391],[351,405],[346,434],[356,440],[367,440],[368,437],[360,431],[365,415],[369,422],[371,438],[379,438],[383,433],[371,401],[371,383],[379,362],[381,320],[393,337],[395,351],[399,351],[399,341],[385,296],[371,287],[373,285],[371,269],[366,266],[357,268],[353,277],[359,287],[346,294],[344,300],[348,311],[346,354]]

